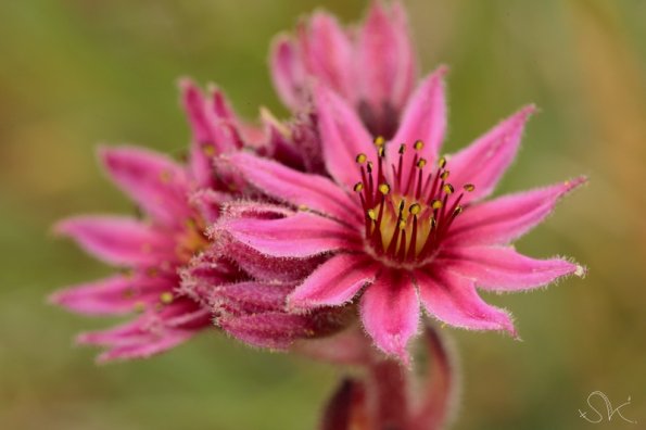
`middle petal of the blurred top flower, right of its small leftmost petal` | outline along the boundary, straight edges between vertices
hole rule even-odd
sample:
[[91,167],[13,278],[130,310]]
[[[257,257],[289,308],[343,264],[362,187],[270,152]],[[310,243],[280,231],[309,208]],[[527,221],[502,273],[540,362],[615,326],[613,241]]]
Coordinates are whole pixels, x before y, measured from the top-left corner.
[[307,73],[344,98],[354,100],[357,89],[349,66],[353,62],[350,39],[337,18],[327,13],[315,13],[307,24],[299,34]]

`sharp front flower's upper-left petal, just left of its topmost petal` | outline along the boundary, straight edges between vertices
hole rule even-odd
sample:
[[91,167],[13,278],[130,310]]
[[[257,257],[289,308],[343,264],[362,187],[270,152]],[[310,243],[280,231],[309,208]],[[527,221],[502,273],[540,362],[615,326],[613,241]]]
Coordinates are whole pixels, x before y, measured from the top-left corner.
[[314,96],[328,172],[337,182],[352,189],[362,180],[356,156],[364,153],[373,161],[372,139],[345,100],[322,85],[316,86]]

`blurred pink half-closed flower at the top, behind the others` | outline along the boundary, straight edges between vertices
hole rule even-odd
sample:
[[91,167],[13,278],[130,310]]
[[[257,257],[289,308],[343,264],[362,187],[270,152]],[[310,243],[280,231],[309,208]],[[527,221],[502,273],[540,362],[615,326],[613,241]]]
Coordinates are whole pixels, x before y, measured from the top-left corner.
[[279,36],[270,55],[275,87],[294,111],[309,100],[311,80],[347,100],[375,135],[391,137],[417,79],[406,13],[373,1],[363,25],[344,29],[335,17],[315,13],[295,38]]

